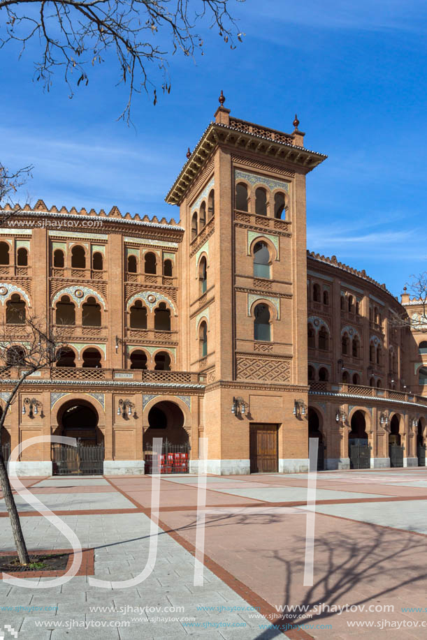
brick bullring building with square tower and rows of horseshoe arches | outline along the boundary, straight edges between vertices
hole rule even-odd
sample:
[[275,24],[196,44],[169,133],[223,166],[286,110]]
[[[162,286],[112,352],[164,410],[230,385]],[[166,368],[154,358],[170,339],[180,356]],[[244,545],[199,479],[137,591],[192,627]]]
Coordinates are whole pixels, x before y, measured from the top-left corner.
[[[103,472],[139,474],[162,436],[195,471],[204,436],[209,472],[294,472],[312,436],[319,468],[424,463],[427,343],[391,322],[405,306],[385,285],[307,254],[305,176],[326,156],[298,124],[220,105],[166,196],[179,223],[38,200],[1,228],[6,332],[25,348],[25,313],[67,332],[8,412],[5,452],[73,436]],[[52,455],[25,449],[20,473],[49,475]]]

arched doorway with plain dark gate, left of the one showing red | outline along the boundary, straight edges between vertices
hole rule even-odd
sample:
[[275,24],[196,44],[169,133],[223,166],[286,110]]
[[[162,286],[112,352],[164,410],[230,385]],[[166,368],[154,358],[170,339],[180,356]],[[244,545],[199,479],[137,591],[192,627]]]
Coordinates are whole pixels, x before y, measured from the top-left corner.
[[103,473],[104,442],[99,415],[85,400],[71,400],[58,412],[55,436],[75,438],[77,447],[52,444],[54,475],[100,475]]

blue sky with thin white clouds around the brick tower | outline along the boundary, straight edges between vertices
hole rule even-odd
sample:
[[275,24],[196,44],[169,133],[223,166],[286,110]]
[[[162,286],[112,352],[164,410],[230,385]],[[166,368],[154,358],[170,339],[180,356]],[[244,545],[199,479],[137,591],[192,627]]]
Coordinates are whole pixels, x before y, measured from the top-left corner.
[[[231,2],[244,43],[207,24],[205,54],[171,60],[172,90],[136,96],[134,127],[117,122],[126,93],[113,65],[73,99],[57,75],[32,82],[34,43],[0,51],[1,161],[34,165],[31,200],[178,218],[164,202],[224,89],[243,119],[292,130],[328,154],[307,176],[307,246],[367,273],[395,294],[427,270],[425,0]],[[3,18],[3,16],[1,16]],[[4,20],[4,18],[3,18]]]

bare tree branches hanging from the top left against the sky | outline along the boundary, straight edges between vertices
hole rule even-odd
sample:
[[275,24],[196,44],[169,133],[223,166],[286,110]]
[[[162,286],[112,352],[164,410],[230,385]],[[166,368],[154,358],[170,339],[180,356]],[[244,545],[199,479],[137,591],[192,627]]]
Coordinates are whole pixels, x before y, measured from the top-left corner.
[[243,34],[229,13],[231,1],[0,0],[0,12],[7,17],[0,26],[0,47],[15,41],[22,55],[36,36],[41,57],[35,63],[34,77],[49,90],[55,70],[61,68],[70,98],[75,86],[88,84],[91,66],[105,62],[113,53],[117,84],[127,84],[129,90],[119,118],[129,122],[133,94],[152,91],[154,104],[157,102],[157,73],[161,74],[161,89],[171,91],[168,57],[178,50],[184,56],[194,56],[196,51],[203,55],[196,22],[207,18],[232,49],[236,40],[242,42]]

